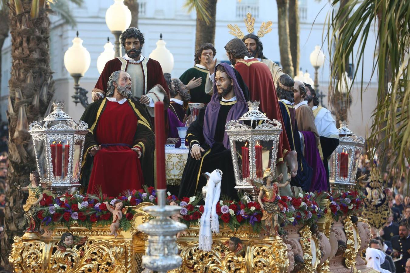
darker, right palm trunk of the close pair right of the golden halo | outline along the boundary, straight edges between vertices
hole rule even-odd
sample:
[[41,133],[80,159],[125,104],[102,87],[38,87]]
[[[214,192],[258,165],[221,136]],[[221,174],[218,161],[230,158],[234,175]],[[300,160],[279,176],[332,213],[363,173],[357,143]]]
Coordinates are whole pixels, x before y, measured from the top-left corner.
[[293,71],[299,71],[299,7],[298,0],[289,0],[289,42]]

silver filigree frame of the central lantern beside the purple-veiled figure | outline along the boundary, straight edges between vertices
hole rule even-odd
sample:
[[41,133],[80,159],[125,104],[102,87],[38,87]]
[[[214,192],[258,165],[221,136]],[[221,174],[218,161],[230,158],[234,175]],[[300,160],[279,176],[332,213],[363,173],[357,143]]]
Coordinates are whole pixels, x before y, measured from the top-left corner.
[[[269,120],[263,113],[258,110],[259,102],[248,102],[249,111],[246,112],[239,120],[231,120],[226,123],[225,129],[229,136],[229,144],[232,156],[232,163],[235,173],[235,189],[247,193],[249,196],[256,198],[253,186],[241,177],[241,167],[238,163],[239,154],[237,142],[246,142],[248,144],[248,158],[242,160],[249,161],[249,178],[257,182],[262,182],[262,178],[256,174],[256,151],[255,145],[260,141],[272,143],[272,149],[269,150],[270,168],[273,175],[276,167],[276,156],[278,154],[279,136],[282,131],[282,124],[277,120]],[[248,124],[246,124],[248,123]],[[270,147],[270,145],[269,145]],[[263,170],[262,170],[263,171]]]

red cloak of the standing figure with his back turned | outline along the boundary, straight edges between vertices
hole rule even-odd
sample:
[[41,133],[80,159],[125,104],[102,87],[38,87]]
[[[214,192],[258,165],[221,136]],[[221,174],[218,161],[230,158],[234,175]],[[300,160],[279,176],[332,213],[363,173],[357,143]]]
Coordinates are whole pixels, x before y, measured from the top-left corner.
[[[283,124],[282,114],[280,113],[278,97],[276,96],[275,84],[273,83],[272,74],[266,64],[257,59],[241,60],[235,64],[235,69],[241,74],[246,85],[249,88],[251,99],[260,101],[259,107],[262,112],[271,120],[278,120]],[[277,161],[280,162],[291,151],[286,131],[282,130],[279,138]]]

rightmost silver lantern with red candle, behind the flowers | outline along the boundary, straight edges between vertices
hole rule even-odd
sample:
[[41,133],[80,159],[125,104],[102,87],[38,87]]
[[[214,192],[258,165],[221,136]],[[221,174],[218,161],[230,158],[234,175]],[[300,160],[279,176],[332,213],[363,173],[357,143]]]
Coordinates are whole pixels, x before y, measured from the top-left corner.
[[333,190],[346,190],[355,185],[358,162],[364,147],[364,138],[355,135],[341,122],[339,145],[330,158],[330,185]]

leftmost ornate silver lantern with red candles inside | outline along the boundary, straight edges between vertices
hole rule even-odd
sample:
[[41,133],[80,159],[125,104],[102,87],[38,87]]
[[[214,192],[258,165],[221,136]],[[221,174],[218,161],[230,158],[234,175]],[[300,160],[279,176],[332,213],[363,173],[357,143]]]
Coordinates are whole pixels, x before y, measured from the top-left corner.
[[64,102],[53,102],[54,111],[29,126],[41,182],[54,193],[80,186],[80,169],[88,125],[64,113]]

